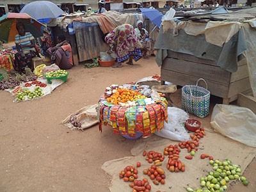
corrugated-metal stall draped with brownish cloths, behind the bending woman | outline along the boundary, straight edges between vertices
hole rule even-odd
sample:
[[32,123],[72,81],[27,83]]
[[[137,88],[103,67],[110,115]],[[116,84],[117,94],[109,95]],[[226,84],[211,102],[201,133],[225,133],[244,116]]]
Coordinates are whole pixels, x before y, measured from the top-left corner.
[[[82,19],[77,21],[79,17]],[[111,11],[100,15],[74,13],[52,21],[49,26],[52,26],[54,35],[64,33],[70,40],[74,63],[78,64],[100,56],[102,51],[108,51],[108,45],[104,43],[104,34],[124,23],[136,26],[138,20],[143,20],[139,13],[121,14]]]

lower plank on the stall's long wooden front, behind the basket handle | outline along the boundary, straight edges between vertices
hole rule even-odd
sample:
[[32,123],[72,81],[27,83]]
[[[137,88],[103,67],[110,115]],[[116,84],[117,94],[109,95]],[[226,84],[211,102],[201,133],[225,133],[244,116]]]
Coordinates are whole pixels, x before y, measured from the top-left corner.
[[[161,80],[168,81],[173,84],[177,84],[180,86],[184,86],[186,84],[195,84],[198,77],[189,76],[187,74],[180,74],[179,72],[173,72],[171,70],[166,70],[161,68]],[[207,80],[208,89],[212,95],[216,95],[218,97],[227,98],[228,95],[228,85],[221,84],[216,81]],[[201,84],[200,84],[201,85]]]

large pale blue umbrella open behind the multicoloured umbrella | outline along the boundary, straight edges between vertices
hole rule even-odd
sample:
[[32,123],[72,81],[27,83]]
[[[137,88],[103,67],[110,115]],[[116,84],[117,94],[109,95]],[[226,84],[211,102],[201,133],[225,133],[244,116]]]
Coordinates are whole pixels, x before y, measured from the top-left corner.
[[38,19],[54,19],[63,14],[63,10],[50,1],[33,1],[26,4],[20,13],[28,13],[31,17]]

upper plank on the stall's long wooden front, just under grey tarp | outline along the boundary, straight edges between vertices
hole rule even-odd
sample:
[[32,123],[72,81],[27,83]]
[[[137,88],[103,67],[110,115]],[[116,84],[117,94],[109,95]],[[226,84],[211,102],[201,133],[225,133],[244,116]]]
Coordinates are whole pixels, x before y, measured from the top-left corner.
[[198,77],[198,79],[204,78],[222,84],[228,84],[230,81],[230,72],[212,65],[166,58],[162,68],[187,74],[189,76],[195,76]]

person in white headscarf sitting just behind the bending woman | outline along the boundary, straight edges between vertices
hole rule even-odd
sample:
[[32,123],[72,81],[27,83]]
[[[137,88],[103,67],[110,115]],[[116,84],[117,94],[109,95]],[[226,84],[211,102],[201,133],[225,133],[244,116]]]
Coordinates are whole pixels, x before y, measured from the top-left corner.
[[150,39],[148,36],[148,31],[143,28],[143,22],[141,20],[138,20],[137,28],[135,28],[135,31],[136,31],[136,35],[138,36],[138,38],[141,37],[141,31],[145,31],[146,38],[144,38],[143,40],[141,40],[141,38],[140,38],[140,40],[141,40],[141,44],[142,44],[142,51],[144,52],[143,58],[148,58],[148,55],[150,54],[150,51],[151,51]]

